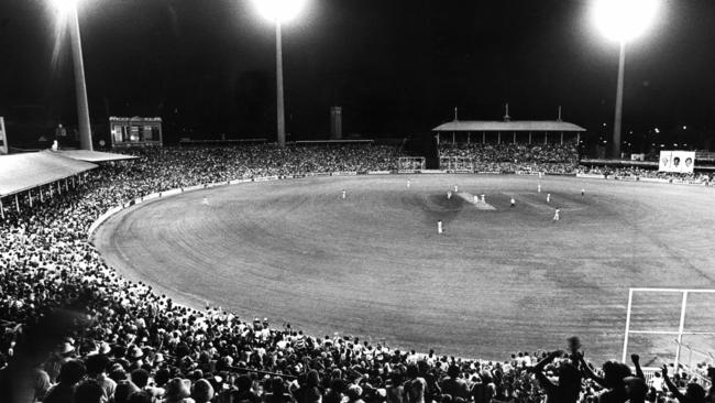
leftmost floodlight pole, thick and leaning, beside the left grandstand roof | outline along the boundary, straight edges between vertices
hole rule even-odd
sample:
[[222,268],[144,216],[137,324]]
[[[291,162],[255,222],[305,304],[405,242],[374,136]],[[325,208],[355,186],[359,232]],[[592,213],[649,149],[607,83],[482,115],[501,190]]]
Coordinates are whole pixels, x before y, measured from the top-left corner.
[[77,121],[79,124],[79,146],[92,151],[92,134],[89,126],[89,105],[87,102],[87,84],[85,83],[85,64],[81,57],[81,37],[79,34],[79,18],[77,6],[69,7],[69,36],[72,40],[72,56],[75,66],[75,96],[77,98]]

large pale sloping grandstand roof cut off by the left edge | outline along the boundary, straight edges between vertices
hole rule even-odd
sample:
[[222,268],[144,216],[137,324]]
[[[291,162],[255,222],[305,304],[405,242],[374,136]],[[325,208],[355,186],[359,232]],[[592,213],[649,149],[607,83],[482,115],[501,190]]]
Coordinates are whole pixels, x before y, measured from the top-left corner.
[[13,195],[96,168],[52,151],[0,156],[0,197]]

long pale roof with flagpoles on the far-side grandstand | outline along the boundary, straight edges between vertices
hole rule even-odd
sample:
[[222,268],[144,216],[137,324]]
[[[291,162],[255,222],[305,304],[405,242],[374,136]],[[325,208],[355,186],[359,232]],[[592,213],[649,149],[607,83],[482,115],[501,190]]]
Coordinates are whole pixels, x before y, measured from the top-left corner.
[[490,121],[490,120],[453,120],[442,123],[432,131],[586,131],[586,129],[559,120],[517,120],[517,121]]

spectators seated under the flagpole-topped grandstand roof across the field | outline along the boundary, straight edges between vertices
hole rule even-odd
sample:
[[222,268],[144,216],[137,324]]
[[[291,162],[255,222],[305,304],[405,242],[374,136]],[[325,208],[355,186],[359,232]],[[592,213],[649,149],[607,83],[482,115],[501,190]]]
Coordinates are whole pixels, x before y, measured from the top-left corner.
[[476,172],[573,174],[579,166],[575,143],[443,143],[439,155],[471,159]]

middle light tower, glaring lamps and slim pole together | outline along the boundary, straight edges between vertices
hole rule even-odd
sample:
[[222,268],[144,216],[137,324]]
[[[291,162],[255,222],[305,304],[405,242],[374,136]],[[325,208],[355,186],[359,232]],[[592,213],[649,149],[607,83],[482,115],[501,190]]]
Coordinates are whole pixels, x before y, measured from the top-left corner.
[[296,18],[306,0],[254,0],[258,12],[276,25],[276,115],[278,146],[286,145],[286,117],[283,96],[283,44],[280,25]]

